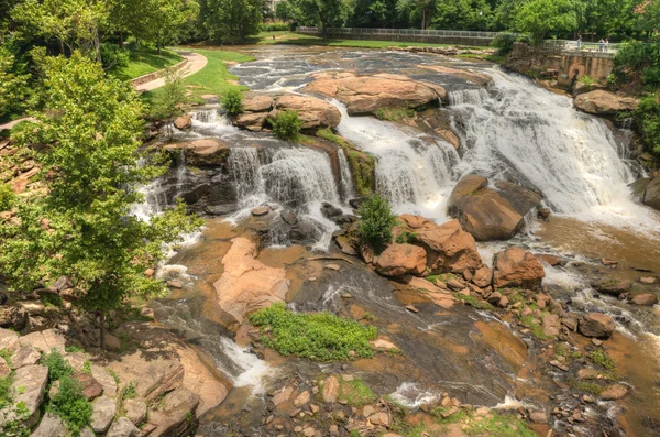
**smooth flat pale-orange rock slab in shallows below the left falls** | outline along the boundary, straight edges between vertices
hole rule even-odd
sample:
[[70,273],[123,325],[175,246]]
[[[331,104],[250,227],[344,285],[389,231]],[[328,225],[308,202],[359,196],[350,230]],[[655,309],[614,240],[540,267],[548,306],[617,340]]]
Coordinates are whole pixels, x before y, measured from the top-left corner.
[[268,267],[255,256],[254,242],[234,238],[222,259],[224,273],[213,284],[220,308],[239,324],[250,313],[284,302],[290,285],[284,269]]

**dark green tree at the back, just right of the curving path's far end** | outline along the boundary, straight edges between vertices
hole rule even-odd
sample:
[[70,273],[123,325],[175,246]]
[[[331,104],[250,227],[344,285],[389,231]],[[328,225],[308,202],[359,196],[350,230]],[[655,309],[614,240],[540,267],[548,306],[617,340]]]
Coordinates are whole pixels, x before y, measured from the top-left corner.
[[263,19],[262,0],[202,0],[200,17],[210,39],[242,42],[258,33]]

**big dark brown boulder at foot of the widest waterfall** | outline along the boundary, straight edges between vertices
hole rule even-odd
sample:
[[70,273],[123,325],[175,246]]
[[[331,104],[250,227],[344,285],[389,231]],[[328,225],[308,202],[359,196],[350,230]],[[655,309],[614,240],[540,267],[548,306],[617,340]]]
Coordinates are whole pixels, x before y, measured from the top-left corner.
[[537,207],[541,197],[509,182],[490,188],[485,177],[468,175],[451,193],[448,212],[463,229],[480,241],[508,240],[518,232],[525,215]]

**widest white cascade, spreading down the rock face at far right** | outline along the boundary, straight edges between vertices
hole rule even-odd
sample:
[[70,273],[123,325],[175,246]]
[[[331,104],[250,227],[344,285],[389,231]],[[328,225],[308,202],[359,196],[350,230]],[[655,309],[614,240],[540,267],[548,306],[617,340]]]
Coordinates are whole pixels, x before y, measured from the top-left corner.
[[490,73],[494,85],[490,92],[482,90],[487,98],[450,92],[452,122],[464,150],[461,174],[521,181],[560,214],[609,215],[614,221],[649,218],[629,200],[627,185],[635,177],[622,160],[626,146],[604,121],[575,111],[570,99],[521,76]]

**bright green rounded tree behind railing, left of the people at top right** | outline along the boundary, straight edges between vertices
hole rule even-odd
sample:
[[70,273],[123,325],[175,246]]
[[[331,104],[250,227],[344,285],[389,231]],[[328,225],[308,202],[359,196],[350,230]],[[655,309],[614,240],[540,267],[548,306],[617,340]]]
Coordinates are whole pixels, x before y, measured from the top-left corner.
[[516,25],[540,44],[549,31],[575,30],[578,17],[572,0],[528,0],[517,11]]

